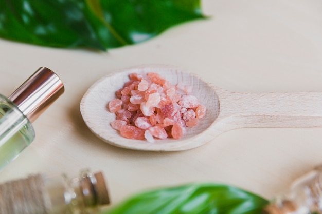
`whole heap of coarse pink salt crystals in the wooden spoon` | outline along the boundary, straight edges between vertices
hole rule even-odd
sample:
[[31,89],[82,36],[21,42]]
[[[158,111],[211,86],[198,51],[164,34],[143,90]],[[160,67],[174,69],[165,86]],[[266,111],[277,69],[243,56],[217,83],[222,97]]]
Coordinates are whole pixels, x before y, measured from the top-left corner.
[[186,127],[198,125],[206,114],[206,107],[191,94],[191,86],[176,86],[158,73],[131,73],[130,81],[115,92],[117,98],[109,102],[116,120],[111,126],[124,138],[180,139]]

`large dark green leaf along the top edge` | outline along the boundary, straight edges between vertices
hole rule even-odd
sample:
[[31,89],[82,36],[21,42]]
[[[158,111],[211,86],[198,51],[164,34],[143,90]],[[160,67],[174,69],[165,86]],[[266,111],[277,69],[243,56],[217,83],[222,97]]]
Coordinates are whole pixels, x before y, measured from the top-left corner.
[[99,50],[136,44],[204,18],[200,0],[3,0],[0,37]]

